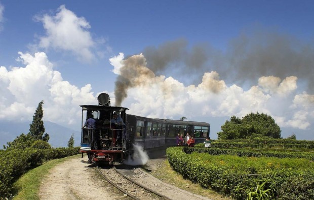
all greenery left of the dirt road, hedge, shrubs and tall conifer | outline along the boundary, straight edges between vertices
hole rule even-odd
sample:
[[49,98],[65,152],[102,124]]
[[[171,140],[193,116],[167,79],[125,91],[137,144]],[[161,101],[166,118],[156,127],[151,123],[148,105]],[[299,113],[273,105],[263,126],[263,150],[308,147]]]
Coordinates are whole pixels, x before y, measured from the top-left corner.
[[[23,174],[43,163],[78,154],[80,147],[52,148],[48,143],[49,134],[45,134],[43,104],[40,102],[29,124],[28,134],[21,134],[0,150],[0,199],[6,199],[18,193],[22,187],[14,184]],[[34,180],[36,176],[34,176]],[[32,199],[32,198],[25,198]]]

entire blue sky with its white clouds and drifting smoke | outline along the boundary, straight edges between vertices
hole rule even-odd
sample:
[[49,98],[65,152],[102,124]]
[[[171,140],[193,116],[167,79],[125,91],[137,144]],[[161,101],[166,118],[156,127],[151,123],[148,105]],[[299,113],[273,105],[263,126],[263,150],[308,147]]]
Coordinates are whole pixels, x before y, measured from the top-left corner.
[[283,138],[313,140],[313,8],[0,0],[0,120],[31,120],[44,100],[45,120],[80,129],[79,105],[107,92],[132,114],[208,121],[213,139],[232,115],[263,112]]

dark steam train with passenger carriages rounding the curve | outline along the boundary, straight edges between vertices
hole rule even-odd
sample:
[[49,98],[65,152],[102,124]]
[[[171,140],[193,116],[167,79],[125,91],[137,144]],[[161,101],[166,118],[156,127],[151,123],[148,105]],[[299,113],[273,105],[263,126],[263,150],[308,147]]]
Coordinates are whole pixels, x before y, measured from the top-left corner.
[[[122,163],[134,153],[134,145],[147,152],[160,152],[176,145],[177,134],[194,137],[203,143],[210,134],[207,122],[148,118],[127,114],[128,108],[111,106],[107,93],[97,97],[98,105],[81,105],[82,135],[80,152],[89,163]],[[120,124],[112,118],[119,117]],[[94,124],[86,125],[89,118]]]

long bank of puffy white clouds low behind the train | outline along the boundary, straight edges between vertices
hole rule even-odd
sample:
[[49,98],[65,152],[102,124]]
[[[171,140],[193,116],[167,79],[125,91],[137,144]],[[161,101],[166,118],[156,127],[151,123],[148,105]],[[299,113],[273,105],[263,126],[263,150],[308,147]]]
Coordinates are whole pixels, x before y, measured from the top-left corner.
[[[62,125],[74,124],[81,121],[79,105],[95,105],[92,86],[87,84],[77,88],[64,81],[45,53],[19,54],[17,60],[24,66],[0,67],[0,119],[31,120],[38,103],[44,100],[45,120]],[[193,119],[199,116],[243,117],[259,112],[273,116],[281,127],[299,129],[308,129],[314,119],[314,95],[306,92],[295,96],[281,95],[296,90],[296,77],[287,77],[283,81],[270,77],[275,80],[271,84],[265,81],[267,78],[261,77],[259,86],[244,90],[237,85],[227,86],[217,72],[210,72],[204,73],[199,85],[185,86],[173,77],[154,76],[146,69],[143,55],[132,56],[132,59],[133,65],[130,66],[144,73],[132,77],[136,84],[127,90],[128,96],[123,102],[131,114]],[[110,59],[110,63],[115,64],[114,72],[119,74],[121,64],[131,61],[125,62],[121,53]],[[110,94],[111,104],[114,105],[113,92],[105,92]]]

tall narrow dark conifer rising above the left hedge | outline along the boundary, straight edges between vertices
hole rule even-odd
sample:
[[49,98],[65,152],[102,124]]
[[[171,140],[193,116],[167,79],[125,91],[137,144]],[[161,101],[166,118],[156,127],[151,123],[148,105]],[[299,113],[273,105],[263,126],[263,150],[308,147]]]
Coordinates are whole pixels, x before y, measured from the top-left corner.
[[44,101],[41,101],[38,104],[38,107],[33,116],[32,123],[29,124],[29,134],[35,140],[44,140],[48,142],[49,134],[46,133],[45,136],[43,137],[45,133],[44,121],[42,120],[44,116],[43,104]]

